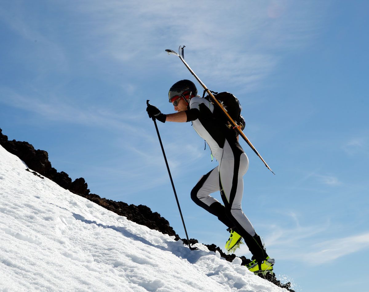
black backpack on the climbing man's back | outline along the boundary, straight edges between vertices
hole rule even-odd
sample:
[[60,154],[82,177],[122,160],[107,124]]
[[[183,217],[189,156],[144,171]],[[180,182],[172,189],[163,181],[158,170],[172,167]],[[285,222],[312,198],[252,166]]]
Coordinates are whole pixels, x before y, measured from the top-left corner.
[[[204,90],[204,94],[203,97],[205,95],[205,90]],[[234,120],[238,126],[241,126],[241,130],[244,130],[245,128],[245,119],[244,117],[241,116],[241,110],[242,110],[242,106],[239,103],[239,100],[237,97],[235,97],[234,95],[232,95],[232,93],[229,92],[213,92],[211,91],[211,93],[213,93],[214,97],[218,100],[218,102],[224,107],[225,110],[227,110],[227,113],[230,115],[230,117],[232,118],[232,120]],[[209,102],[211,103],[215,103],[214,100],[209,96],[205,96],[205,99],[207,99]],[[216,118],[218,118],[221,123],[224,123],[225,126],[227,126],[227,128],[229,129],[233,129],[234,126],[230,123],[230,121],[228,121],[228,117],[224,114],[223,110],[221,110],[217,104],[214,104],[214,112],[213,112],[214,116]],[[236,131],[236,134],[238,135],[238,131],[236,129],[234,129]]]

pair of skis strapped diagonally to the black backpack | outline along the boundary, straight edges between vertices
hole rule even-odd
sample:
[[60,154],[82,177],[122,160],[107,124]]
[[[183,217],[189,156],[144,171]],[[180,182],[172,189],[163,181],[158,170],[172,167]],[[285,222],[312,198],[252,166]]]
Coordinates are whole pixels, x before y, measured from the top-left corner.
[[205,84],[200,80],[199,77],[197,77],[197,75],[193,72],[193,70],[190,68],[190,66],[187,64],[186,61],[184,61],[184,57],[183,57],[183,49],[184,46],[181,48],[179,46],[179,52],[182,51],[182,54],[179,53],[177,54],[175,51],[170,50],[170,49],[166,49],[165,51],[168,54],[174,54],[177,55],[177,57],[180,58],[180,60],[182,61],[182,63],[186,66],[186,68],[191,72],[191,74],[194,76],[194,78],[196,78],[196,80],[200,83],[200,85],[204,88],[204,90],[207,92],[207,94],[211,97],[211,99],[213,100],[214,104],[216,104],[219,109],[225,114],[225,116],[228,118],[228,121],[231,123],[231,125],[233,127],[235,127],[235,129],[238,131],[238,133],[241,135],[241,137],[246,141],[246,143],[251,147],[251,149],[255,152],[256,155],[259,156],[259,158],[264,162],[265,166],[272,172],[272,174],[275,174],[272,169],[270,169],[269,165],[266,164],[265,160],[261,157],[261,155],[259,154],[259,152],[255,149],[254,145],[251,144],[251,142],[249,141],[249,139],[246,137],[246,135],[242,132],[241,130],[241,126],[238,125],[234,119],[232,119],[232,117],[227,113],[227,110],[224,109],[224,107],[221,105],[220,102],[218,102],[218,100],[214,97],[213,93],[211,93],[211,91],[209,89],[207,89],[207,87],[205,86]]

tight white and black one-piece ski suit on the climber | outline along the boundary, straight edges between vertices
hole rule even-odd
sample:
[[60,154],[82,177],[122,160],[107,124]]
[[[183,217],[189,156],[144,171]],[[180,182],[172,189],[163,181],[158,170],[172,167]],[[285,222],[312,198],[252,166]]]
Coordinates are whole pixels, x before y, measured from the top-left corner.
[[[235,132],[214,118],[213,104],[207,99],[193,97],[189,107],[186,110],[187,121],[192,121],[194,130],[207,142],[213,157],[219,162],[217,167],[200,178],[192,189],[191,198],[240,234],[254,258],[263,260],[267,254],[261,239],[241,207],[248,157],[239,145]],[[220,191],[224,205],[210,196],[217,191]]]

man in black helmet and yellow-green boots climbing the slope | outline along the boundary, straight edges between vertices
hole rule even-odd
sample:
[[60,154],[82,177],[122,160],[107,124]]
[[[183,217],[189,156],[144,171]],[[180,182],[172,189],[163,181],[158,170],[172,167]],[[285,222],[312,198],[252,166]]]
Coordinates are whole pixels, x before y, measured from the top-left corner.
[[[146,111],[150,118],[154,117],[162,123],[192,121],[194,130],[210,147],[211,154],[219,165],[207,174],[201,176],[199,182],[191,191],[192,200],[205,210],[214,214],[230,231],[226,243],[228,251],[234,251],[245,240],[252,262],[246,267],[255,274],[272,272],[274,259],[269,258],[256,234],[254,227],[241,208],[243,195],[243,176],[246,173],[248,157],[238,143],[238,134],[220,123],[213,115],[214,104],[197,95],[197,89],[190,80],[180,80],[169,89],[169,102],[177,113],[163,114],[149,104]],[[222,205],[211,193],[220,191]]]

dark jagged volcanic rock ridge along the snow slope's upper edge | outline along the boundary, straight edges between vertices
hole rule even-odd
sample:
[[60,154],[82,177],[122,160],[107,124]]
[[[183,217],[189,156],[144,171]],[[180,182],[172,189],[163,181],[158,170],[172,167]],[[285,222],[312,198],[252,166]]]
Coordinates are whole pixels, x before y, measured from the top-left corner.
[[[175,236],[176,240],[179,240],[178,234],[173,230],[173,228],[169,225],[168,220],[161,217],[159,213],[152,212],[151,209],[145,205],[128,205],[124,202],[115,202],[113,200],[108,200],[105,198],[101,198],[99,195],[90,193],[90,190],[87,188],[87,183],[84,178],[77,178],[72,182],[72,179],[68,174],[61,171],[56,171],[55,168],[51,166],[49,162],[49,155],[44,150],[35,150],[35,148],[29,144],[28,142],[20,142],[20,141],[8,141],[8,137],[2,134],[2,130],[0,129],[0,145],[3,146],[8,152],[18,156],[20,159],[24,161],[27,166],[33,171],[38,172],[39,174],[51,179],[55,183],[57,183],[62,188],[70,190],[76,195],[85,197],[90,201],[97,203],[98,205],[117,213],[120,216],[127,217],[128,220],[131,220],[135,223],[144,225],[149,227],[150,229],[155,229],[160,231],[163,234],[169,234],[169,236]],[[27,169],[27,171],[30,171]],[[30,171],[32,172],[32,171]],[[34,172],[32,172],[34,173]],[[36,173],[34,173],[37,175]],[[41,176],[40,176],[41,177]],[[42,178],[42,177],[41,177]],[[182,239],[184,244],[187,243],[187,239]],[[190,239],[190,244],[198,243],[194,238]],[[220,247],[217,247],[215,244],[205,244],[210,251],[219,251],[221,257],[223,257],[227,261],[233,261],[236,257],[234,254],[227,255],[223,253]],[[242,265],[248,264],[251,260],[240,257],[242,260]],[[275,274],[268,274],[266,279],[275,285],[286,288],[288,291],[294,292],[290,288],[291,283],[288,282],[286,284],[282,284],[279,280],[275,278]]]

